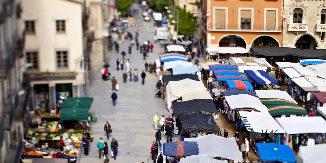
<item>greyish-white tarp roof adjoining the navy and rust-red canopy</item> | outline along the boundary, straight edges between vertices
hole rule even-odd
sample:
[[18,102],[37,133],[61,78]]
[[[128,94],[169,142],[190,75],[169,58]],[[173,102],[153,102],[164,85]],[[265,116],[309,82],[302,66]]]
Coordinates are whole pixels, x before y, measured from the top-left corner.
[[198,155],[187,156],[208,156],[222,157],[241,162],[242,157],[234,138],[224,138],[214,134],[208,134],[197,138],[186,138],[184,141],[195,141],[198,144]]

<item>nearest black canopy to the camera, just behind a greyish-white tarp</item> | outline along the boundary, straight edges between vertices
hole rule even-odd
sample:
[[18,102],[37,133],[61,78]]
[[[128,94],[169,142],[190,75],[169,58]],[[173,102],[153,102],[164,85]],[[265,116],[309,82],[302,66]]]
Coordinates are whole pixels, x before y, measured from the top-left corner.
[[[220,127],[214,121],[212,114],[191,113],[179,115],[181,134],[183,133],[217,133]],[[196,134],[197,136],[197,134]]]

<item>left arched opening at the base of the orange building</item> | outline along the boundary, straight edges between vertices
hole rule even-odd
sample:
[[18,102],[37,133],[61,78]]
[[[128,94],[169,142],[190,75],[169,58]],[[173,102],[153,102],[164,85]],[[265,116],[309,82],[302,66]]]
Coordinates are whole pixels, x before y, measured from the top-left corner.
[[229,35],[221,38],[218,43],[219,47],[243,47],[246,48],[246,43],[243,38],[236,35]]

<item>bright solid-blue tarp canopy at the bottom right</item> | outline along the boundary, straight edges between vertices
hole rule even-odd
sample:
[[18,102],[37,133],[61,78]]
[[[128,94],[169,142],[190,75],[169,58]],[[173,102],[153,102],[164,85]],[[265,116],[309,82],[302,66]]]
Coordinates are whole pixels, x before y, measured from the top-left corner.
[[275,143],[256,143],[261,161],[279,161],[295,163],[296,159],[288,145]]

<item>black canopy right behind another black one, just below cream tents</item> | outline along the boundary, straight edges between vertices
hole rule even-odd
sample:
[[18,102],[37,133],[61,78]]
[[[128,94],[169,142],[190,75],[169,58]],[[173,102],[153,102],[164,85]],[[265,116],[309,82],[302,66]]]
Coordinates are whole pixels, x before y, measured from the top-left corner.
[[172,112],[176,115],[206,111],[217,113],[216,107],[211,99],[193,99],[183,102],[172,102]]

